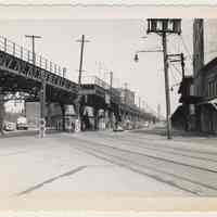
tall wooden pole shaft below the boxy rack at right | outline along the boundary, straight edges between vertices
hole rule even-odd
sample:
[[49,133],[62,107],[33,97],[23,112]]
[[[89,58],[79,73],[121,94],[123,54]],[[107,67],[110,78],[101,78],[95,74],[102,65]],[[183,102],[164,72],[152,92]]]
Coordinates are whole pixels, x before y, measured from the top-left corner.
[[166,33],[162,34],[163,53],[164,53],[164,77],[166,93],[166,120],[167,120],[167,139],[171,139],[171,119],[170,119],[170,97],[169,97],[169,76],[167,62],[167,42]]

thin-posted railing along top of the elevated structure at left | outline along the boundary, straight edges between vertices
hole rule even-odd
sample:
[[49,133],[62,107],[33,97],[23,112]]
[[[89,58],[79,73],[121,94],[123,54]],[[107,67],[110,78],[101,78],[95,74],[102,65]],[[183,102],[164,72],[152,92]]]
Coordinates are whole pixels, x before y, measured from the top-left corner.
[[9,40],[3,36],[0,36],[0,50],[62,77],[65,77],[66,75],[65,67],[61,67],[42,55],[33,53],[30,50]]

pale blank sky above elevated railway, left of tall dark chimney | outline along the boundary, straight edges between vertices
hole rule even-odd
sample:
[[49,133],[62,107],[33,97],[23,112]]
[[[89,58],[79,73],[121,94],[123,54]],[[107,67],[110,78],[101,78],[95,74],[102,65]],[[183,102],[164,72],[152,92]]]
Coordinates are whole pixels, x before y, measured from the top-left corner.
[[[36,41],[36,53],[40,53],[62,67],[67,68],[66,77],[78,79],[80,43],[77,39],[84,34],[89,42],[85,43],[84,74],[97,75],[108,81],[108,73],[114,73],[114,86],[128,88],[136,92],[154,111],[161,105],[165,115],[164,65],[162,53],[140,53],[139,62],[133,61],[140,50],[162,48],[158,35],[146,35],[145,20],[18,20],[0,21],[2,36],[30,49],[30,40],[25,35],[40,35]],[[144,38],[142,38],[145,36]],[[167,37],[168,53],[183,52],[187,74],[192,74],[192,21],[182,21],[181,36]],[[175,69],[176,68],[176,69]],[[171,112],[178,106],[177,93],[180,82],[180,64],[169,67]]]

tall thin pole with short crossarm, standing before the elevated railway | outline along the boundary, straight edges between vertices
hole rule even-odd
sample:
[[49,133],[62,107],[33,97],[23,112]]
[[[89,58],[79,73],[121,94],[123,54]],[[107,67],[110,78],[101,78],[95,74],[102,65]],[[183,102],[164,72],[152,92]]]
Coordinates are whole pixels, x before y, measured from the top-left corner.
[[81,36],[81,40],[77,40],[77,42],[80,42],[80,62],[79,62],[79,74],[78,74],[78,97],[77,97],[77,117],[78,117],[78,123],[77,123],[77,131],[80,131],[80,126],[81,126],[81,118],[80,118],[80,100],[81,100],[81,76],[82,76],[82,59],[84,59],[84,47],[85,42],[89,42],[88,40],[85,40],[85,35]]

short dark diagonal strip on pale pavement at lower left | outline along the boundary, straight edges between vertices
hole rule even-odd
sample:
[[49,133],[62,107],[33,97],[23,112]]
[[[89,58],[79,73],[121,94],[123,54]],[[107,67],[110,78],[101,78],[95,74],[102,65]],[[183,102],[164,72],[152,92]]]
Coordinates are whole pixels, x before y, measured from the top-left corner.
[[48,179],[48,180],[46,180],[46,181],[43,181],[41,183],[38,183],[38,184],[34,186],[34,187],[30,187],[27,190],[17,193],[16,195],[21,196],[21,195],[24,195],[24,194],[28,194],[28,193],[37,190],[37,189],[42,188],[44,184],[51,183],[51,182],[53,182],[53,181],[55,181],[58,179],[61,179],[63,177],[67,177],[67,176],[74,175],[74,174],[76,174],[76,173],[78,173],[78,171],[80,171],[80,170],[82,170],[82,169],[85,169],[88,166],[79,166],[79,167],[77,167],[77,168],[75,168],[73,170],[69,170],[69,171],[65,173],[65,174],[59,175],[59,176],[50,178],[50,179]]

